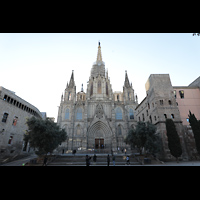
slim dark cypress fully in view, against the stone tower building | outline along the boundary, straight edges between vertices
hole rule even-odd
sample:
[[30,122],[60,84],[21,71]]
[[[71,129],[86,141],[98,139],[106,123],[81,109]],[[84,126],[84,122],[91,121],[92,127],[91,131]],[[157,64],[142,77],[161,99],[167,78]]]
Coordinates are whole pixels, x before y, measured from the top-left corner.
[[174,121],[172,119],[166,119],[166,129],[170,153],[178,161],[178,157],[180,157],[182,154],[182,148],[180,138],[178,136]]

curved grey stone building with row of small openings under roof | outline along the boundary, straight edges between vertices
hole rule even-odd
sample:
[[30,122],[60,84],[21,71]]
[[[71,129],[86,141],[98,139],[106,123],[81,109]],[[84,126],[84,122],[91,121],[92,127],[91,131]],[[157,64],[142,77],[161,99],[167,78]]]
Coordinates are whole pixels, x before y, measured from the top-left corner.
[[28,127],[26,119],[42,118],[40,111],[14,92],[0,87],[0,157],[30,152],[23,141]]

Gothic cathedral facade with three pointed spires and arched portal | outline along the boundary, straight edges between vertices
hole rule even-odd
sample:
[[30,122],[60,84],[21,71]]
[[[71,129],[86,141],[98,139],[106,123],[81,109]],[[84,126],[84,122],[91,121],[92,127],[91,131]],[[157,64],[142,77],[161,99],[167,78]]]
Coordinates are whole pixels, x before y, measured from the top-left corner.
[[61,96],[57,123],[67,132],[62,149],[106,149],[117,151],[128,148],[124,138],[137,124],[134,94],[127,72],[123,92],[113,92],[108,71],[102,61],[100,42],[86,92],[76,93],[74,71]]

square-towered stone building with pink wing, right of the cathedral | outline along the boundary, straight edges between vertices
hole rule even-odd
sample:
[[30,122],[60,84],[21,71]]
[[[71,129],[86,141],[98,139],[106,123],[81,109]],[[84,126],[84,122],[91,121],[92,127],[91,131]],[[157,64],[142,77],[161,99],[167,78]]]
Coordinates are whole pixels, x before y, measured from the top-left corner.
[[145,88],[146,97],[136,107],[137,121],[151,122],[157,126],[162,143],[161,157],[170,160],[165,121],[174,121],[182,145],[182,159],[190,159],[195,154],[195,141],[189,126],[189,110],[200,120],[200,77],[189,86],[173,87],[169,74],[151,74]]

